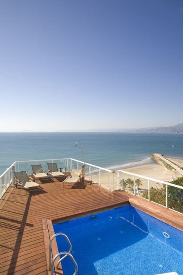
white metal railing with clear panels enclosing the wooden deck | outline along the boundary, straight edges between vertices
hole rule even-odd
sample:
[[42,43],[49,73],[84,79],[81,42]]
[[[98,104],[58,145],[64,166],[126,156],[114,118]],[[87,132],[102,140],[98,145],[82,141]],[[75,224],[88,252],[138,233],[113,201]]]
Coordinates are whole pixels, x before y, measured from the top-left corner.
[[[84,164],[83,161],[76,160],[73,158],[57,158],[57,159],[41,159],[41,160],[25,160],[25,161],[16,161],[14,162],[7,170],[0,175],[0,198],[2,198],[3,194],[6,192],[7,188],[10,184],[14,184],[14,176],[13,173],[27,170],[29,174],[31,174],[31,164],[42,164],[43,169],[47,170],[46,162],[56,162],[59,168],[65,167],[67,171],[70,171],[72,168],[79,169]],[[132,192],[134,195],[140,196],[139,190],[137,188],[136,179],[140,178],[143,180],[147,180],[147,188],[148,191],[148,200],[150,201],[150,182],[156,182],[158,184],[165,185],[165,207],[168,208],[168,186],[172,186],[174,188],[179,188],[183,190],[182,186],[172,184],[169,182],[165,182],[162,180],[157,180],[155,178],[150,178],[146,176],[142,176],[139,174],[127,172],[124,170],[112,171],[107,168],[102,168],[100,166],[96,166],[90,163],[85,162],[85,177],[87,180],[99,184],[108,190],[123,190],[123,179],[125,175],[129,175],[133,180],[133,188]],[[121,188],[120,188],[121,181]],[[131,192],[130,190],[126,190],[127,192]]]

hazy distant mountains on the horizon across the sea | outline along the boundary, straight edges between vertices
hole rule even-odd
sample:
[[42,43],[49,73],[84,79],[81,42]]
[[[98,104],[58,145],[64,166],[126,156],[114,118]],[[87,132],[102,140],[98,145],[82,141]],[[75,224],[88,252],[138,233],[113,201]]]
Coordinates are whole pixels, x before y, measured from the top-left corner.
[[169,127],[149,127],[137,129],[118,129],[118,132],[138,132],[138,133],[183,133],[183,123]]

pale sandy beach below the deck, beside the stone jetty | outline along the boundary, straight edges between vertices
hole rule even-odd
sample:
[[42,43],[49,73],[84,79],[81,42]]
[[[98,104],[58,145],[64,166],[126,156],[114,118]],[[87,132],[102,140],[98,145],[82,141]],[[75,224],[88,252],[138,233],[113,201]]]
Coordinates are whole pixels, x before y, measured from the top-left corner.
[[[175,158],[169,158],[169,160],[173,161],[174,163],[176,163],[179,166],[183,166],[183,159],[175,159]],[[136,167],[132,167],[132,168],[126,168],[123,171],[126,172],[130,172],[130,173],[135,173],[138,175],[142,175],[142,176],[146,176],[146,177],[150,177],[150,178],[154,178],[157,179],[157,182],[153,182],[150,181],[150,186],[152,187],[160,187],[160,184],[158,183],[158,180],[163,180],[163,181],[172,181],[172,177],[173,179],[176,179],[176,173],[172,172],[162,166],[160,166],[159,164],[146,164],[146,165],[142,165],[142,166],[136,166]],[[109,174],[107,172],[101,172],[100,174],[100,183],[103,186],[109,187],[108,184],[108,178],[109,178]],[[131,178],[133,180],[133,176],[130,176],[128,174],[124,174],[123,173],[123,178],[124,180],[126,180],[127,178]],[[140,178],[136,177],[136,178]],[[94,182],[99,182],[99,175],[93,175],[92,176],[92,180]],[[121,175],[120,175],[120,180],[121,180]],[[142,181],[142,186],[140,186],[140,188],[142,190],[147,190],[148,189],[148,180],[140,178],[140,180]],[[118,181],[118,173],[110,173],[110,188],[113,190],[117,189],[117,181]],[[128,190],[129,191],[129,190]]]

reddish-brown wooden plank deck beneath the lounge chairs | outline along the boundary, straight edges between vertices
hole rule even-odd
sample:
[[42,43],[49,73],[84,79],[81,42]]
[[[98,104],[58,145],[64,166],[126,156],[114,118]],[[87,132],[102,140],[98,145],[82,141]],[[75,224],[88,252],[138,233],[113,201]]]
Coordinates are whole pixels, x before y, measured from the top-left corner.
[[0,201],[0,274],[47,274],[42,218],[54,220],[128,203],[122,192],[96,184],[63,188],[55,180],[41,187],[40,192],[27,195],[21,188],[10,187]]

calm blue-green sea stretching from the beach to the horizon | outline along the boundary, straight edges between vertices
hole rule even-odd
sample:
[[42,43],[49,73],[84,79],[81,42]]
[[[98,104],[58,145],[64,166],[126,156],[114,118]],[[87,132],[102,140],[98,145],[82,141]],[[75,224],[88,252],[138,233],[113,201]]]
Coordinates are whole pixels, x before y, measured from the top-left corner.
[[[150,153],[183,158],[182,134],[0,133],[0,174],[15,160],[76,158],[109,169],[152,163]],[[174,147],[172,147],[174,145]]]

